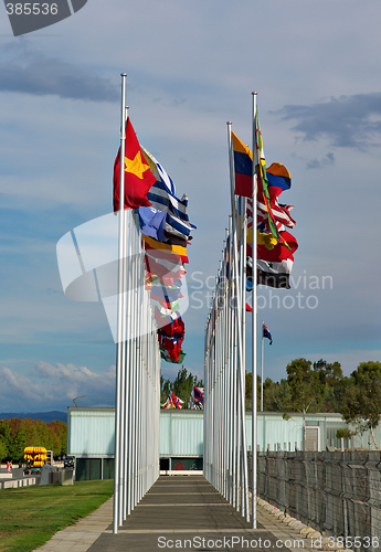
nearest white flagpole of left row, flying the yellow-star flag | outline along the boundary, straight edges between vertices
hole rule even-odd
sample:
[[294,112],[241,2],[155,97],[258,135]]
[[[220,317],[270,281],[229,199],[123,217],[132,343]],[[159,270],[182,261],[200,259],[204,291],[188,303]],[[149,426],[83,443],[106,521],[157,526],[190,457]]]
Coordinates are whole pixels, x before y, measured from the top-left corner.
[[[117,360],[116,360],[116,389],[115,389],[115,474],[114,474],[114,506],[113,506],[113,533],[118,532],[120,518],[120,406],[121,406],[121,381],[125,370],[125,248],[126,248],[126,223],[125,223],[125,146],[126,146],[126,73],[121,73],[121,109],[120,109],[120,173],[119,173],[119,236],[118,236],[118,328],[117,328]],[[121,490],[121,489],[120,489]]]

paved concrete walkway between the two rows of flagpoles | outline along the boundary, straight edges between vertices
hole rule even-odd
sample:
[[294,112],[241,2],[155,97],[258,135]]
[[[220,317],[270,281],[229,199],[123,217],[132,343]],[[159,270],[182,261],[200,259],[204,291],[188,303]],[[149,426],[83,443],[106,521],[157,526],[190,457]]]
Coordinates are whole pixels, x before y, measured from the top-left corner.
[[[113,534],[113,499],[63,531],[39,552],[158,552],[161,549],[247,551],[300,549],[310,543],[258,507],[257,529],[247,523],[202,476],[160,477]],[[303,545],[298,542],[303,542]]]

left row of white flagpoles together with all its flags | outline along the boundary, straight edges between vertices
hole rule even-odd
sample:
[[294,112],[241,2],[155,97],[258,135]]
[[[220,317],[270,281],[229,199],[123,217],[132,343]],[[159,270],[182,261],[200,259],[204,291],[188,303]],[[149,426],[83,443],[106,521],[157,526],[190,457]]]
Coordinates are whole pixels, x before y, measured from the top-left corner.
[[115,533],[159,475],[160,358],[180,363],[186,354],[182,286],[195,229],[188,198],[176,197],[170,177],[137,139],[126,108],[126,76],[113,181],[119,217]]

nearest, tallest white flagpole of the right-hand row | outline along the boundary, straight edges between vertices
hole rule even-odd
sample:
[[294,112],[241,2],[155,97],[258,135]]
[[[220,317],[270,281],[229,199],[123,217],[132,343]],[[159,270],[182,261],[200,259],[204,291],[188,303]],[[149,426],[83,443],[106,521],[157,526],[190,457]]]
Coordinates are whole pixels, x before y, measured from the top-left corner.
[[255,167],[257,164],[257,148],[256,148],[256,96],[257,93],[253,92],[253,247],[252,247],[252,278],[253,278],[253,318],[252,318],[252,380],[253,380],[253,405],[252,405],[252,526],[256,529],[256,192],[257,192],[257,177]]

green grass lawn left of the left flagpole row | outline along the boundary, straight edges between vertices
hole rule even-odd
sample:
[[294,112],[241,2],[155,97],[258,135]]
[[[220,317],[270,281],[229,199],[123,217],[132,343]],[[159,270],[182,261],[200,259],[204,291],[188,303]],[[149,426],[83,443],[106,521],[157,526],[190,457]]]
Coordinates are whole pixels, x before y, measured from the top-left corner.
[[113,493],[112,479],[0,490],[0,551],[33,551]]

